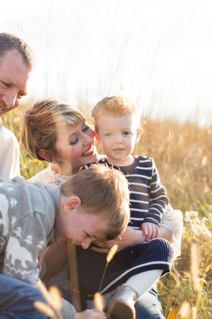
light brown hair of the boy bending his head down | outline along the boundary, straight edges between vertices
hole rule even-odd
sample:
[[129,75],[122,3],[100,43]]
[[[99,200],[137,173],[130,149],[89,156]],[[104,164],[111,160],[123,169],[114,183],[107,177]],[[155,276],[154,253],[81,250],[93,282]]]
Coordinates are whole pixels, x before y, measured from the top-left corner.
[[106,165],[93,165],[73,175],[61,186],[61,192],[81,199],[82,207],[90,214],[108,219],[107,240],[117,238],[125,230],[129,218],[129,189],[124,175]]

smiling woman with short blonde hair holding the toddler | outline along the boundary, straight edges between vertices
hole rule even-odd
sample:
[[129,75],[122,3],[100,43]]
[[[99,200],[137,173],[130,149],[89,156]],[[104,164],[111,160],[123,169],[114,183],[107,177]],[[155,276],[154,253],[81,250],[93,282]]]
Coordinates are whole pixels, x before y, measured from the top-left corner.
[[[80,171],[82,166],[97,160],[97,153],[94,148],[94,133],[87,126],[83,114],[77,108],[66,103],[59,103],[53,99],[38,102],[32,109],[26,111],[23,121],[22,143],[31,157],[51,162],[45,170],[30,179],[30,182],[40,181],[44,184],[53,183],[60,185],[67,181],[71,175]],[[170,206],[169,211],[171,213],[166,214],[161,225],[160,237],[164,237],[169,241],[172,241],[173,238],[177,247],[175,251],[178,255],[180,251],[182,215],[180,211],[173,211]],[[118,241],[119,249],[129,245],[127,244],[129,241],[130,245],[132,245],[132,240],[133,244],[140,243],[141,240],[143,242],[145,241],[145,236],[142,231],[128,228],[121,236],[121,239]],[[98,243],[96,242],[96,244]],[[108,250],[109,248],[110,246],[108,246]],[[43,277],[45,282],[57,273],[61,264],[63,264],[57,263],[59,258],[54,261],[55,254],[57,257],[61,256],[62,262],[65,263],[67,259],[66,249],[66,247],[61,249],[56,244],[50,246],[44,258],[47,266],[46,275]],[[44,268],[44,265],[42,268]],[[66,277],[64,278],[65,285],[63,288],[69,290],[69,287],[66,287],[67,283],[69,284],[67,278],[68,269],[65,268],[64,271]],[[59,274],[60,278],[62,273]],[[53,283],[57,284],[55,278]],[[59,286],[61,287],[61,285]],[[157,304],[159,313],[157,318],[164,318],[160,310],[160,301],[156,300],[157,298],[158,295],[156,293],[153,296],[153,303]],[[148,318],[143,315],[143,308],[149,308],[148,305],[142,305],[142,318]]]

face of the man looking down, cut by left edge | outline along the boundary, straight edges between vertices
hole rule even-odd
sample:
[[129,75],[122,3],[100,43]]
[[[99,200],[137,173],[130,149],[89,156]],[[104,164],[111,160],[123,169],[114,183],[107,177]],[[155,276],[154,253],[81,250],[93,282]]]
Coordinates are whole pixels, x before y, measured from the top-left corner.
[[0,58],[0,117],[18,107],[28,94],[31,70],[13,49]]

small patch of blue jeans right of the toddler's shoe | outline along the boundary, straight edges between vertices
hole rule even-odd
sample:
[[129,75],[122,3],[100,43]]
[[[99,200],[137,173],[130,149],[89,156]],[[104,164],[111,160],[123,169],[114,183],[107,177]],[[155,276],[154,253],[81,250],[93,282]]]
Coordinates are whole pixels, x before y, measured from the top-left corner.
[[136,319],[165,319],[159,294],[154,289],[146,292],[136,304]]

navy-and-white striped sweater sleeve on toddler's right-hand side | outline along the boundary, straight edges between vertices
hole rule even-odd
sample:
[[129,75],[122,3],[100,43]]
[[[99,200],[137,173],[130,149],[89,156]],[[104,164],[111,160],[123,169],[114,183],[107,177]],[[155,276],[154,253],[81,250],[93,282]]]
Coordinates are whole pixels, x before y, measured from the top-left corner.
[[149,181],[149,212],[142,222],[151,222],[160,225],[167,209],[169,200],[166,196],[166,189],[161,184],[155,162],[153,159],[151,159],[151,162],[152,175]]

